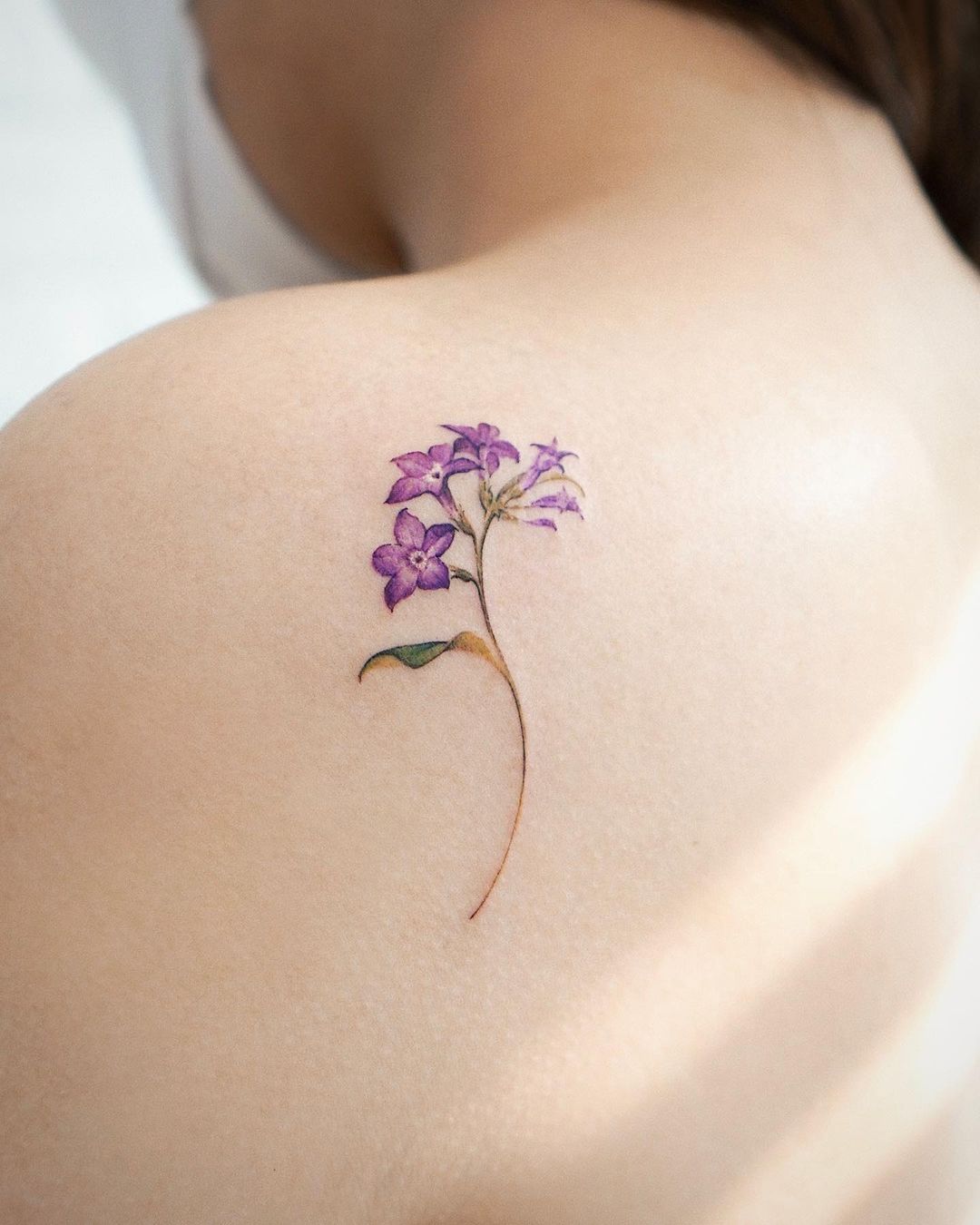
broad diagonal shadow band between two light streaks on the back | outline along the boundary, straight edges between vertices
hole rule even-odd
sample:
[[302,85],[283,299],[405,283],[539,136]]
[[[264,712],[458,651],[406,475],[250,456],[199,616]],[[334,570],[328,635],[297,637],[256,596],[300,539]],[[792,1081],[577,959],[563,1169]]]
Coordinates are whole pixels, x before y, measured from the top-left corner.
[[[719,1045],[695,1066],[673,1069],[677,1077],[665,1093],[652,1094],[589,1150],[567,1153],[564,1167],[539,1171],[533,1182],[511,1182],[499,1216],[464,1209],[451,1218],[454,1225],[545,1221],[556,1191],[561,1220],[707,1225],[729,1219],[715,1210],[731,1188],[927,995],[949,933],[921,922],[922,907],[935,893],[930,869],[941,870],[949,834],[937,827],[913,848],[900,870],[772,984]],[[855,990],[845,975],[869,964],[884,930],[894,932],[900,953],[884,984],[878,973],[870,989]],[[612,1194],[617,1202],[610,1212]],[[751,1204],[747,1212],[731,1219],[755,1220]],[[805,1219],[822,1220],[818,1214]],[[926,1220],[946,1225],[931,1216],[918,1218],[916,1225]],[[864,1225],[860,1215],[850,1221]]]

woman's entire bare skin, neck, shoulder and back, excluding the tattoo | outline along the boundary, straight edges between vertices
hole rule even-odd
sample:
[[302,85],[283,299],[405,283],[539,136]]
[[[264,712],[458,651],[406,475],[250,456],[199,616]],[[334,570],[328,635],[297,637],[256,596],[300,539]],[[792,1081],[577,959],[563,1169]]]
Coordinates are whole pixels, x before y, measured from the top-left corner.
[[[200,20],[281,207],[410,274],[175,321],[0,435],[0,1218],[962,1225],[976,274],[734,29],[366,7]],[[479,627],[369,565],[457,419],[588,488],[484,559],[534,747],[473,922],[505,681],[355,680]]]

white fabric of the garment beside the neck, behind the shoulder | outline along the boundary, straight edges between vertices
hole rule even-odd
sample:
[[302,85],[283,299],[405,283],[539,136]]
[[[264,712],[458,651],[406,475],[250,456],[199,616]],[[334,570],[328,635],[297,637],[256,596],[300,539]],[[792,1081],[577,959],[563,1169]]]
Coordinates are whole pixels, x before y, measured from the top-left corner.
[[183,0],[56,4],[130,110],[157,194],[216,293],[361,276],[300,234],[249,172],[211,102]]

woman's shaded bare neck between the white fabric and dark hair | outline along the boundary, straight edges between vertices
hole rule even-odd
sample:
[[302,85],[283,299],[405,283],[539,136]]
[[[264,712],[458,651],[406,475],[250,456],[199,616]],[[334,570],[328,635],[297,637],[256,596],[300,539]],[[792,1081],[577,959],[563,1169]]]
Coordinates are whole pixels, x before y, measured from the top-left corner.
[[218,102],[273,198],[366,268],[519,251],[533,276],[535,251],[554,268],[567,247],[577,274],[592,250],[622,290],[685,239],[707,262],[752,235],[799,246],[859,219],[876,241],[895,222],[908,252],[909,218],[921,230],[931,216],[876,111],[657,0],[197,0],[197,13]]

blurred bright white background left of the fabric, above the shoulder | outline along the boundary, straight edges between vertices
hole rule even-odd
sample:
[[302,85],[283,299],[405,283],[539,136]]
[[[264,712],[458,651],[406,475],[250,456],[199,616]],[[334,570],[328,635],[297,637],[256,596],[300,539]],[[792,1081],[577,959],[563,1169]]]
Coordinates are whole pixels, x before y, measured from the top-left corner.
[[0,0],[0,425],[74,366],[208,299],[123,109],[49,0]]

